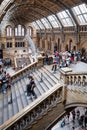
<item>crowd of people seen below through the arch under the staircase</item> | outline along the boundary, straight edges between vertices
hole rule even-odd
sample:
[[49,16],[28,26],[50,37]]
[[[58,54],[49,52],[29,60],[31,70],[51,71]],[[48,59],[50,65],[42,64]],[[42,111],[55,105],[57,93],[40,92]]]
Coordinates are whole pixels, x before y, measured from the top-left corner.
[[75,130],[75,127],[87,128],[87,108],[83,108],[84,112],[80,109],[74,109],[71,112],[68,112],[66,116],[61,121],[60,127],[64,127],[70,123],[73,123],[72,130]]

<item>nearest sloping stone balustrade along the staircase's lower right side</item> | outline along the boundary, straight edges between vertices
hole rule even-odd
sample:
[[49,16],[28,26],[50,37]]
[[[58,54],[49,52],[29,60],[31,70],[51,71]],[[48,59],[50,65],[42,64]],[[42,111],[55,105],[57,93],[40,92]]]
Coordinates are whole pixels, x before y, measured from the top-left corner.
[[62,86],[55,85],[29,106],[0,126],[0,130],[19,130],[31,126],[42,118],[59,101],[62,102]]

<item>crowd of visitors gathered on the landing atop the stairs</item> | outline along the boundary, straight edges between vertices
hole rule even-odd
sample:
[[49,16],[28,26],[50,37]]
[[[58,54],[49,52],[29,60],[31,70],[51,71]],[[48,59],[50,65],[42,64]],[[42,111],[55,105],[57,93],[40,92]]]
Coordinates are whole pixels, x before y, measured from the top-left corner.
[[[46,64],[49,64],[48,54],[46,53]],[[53,54],[53,66],[52,70],[56,71],[57,66],[59,68],[69,67],[71,63],[76,64],[77,61],[86,62],[86,56],[82,55],[80,51],[54,51]]]

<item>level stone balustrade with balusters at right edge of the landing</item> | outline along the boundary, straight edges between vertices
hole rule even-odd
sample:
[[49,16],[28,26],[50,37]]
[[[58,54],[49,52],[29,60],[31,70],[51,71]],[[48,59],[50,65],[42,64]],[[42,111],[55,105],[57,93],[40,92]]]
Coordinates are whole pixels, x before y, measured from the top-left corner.
[[87,85],[87,72],[72,72],[60,70],[60,79],[67,85]]

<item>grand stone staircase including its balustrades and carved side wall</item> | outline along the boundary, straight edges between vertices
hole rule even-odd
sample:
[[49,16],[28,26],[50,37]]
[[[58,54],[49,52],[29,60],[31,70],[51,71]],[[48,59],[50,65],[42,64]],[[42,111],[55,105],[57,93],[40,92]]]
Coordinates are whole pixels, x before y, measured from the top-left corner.
[[[62,73],[61,79],[51,67],[38,68],[35,62],[12,76],[11,89],[0,93],[0,130],[50,130],[67,108],[87,106],[87,74]],[[37,99],[26,93],[29,74],[35,79]]]

